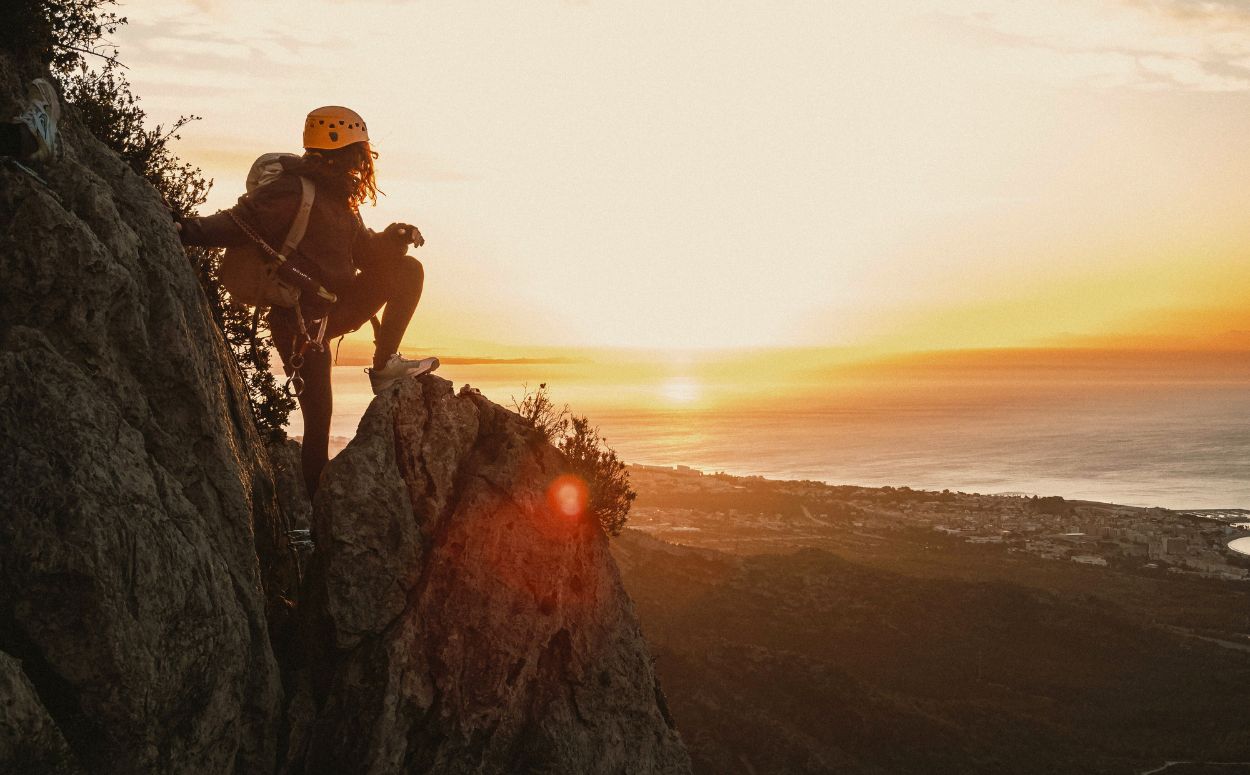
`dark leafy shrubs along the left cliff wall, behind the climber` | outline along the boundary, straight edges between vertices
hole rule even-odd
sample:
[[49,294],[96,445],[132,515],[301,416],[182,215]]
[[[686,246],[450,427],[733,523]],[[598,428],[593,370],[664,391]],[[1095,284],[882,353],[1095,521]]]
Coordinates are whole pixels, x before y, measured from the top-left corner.
[[[174,154],[170,144],[179,130],[198,116],[179,116],[171,126],[148,128],[148,114],[122,75],[118,51],[109,52],[104,36],[125,24],[106,10],[112,0],[25,0],[15,8],[16,30],[5,34],[10,50],[25,51],[49,62],[75,118],[112,149],[160,194],[174,218],[194,216],[212,181],[195,165]],[[8,21],[6,21],[8,24]],[[100,58],[91,68],[88,56]],[[256,426],[269,440],[285,436],[286,419],[295,409],[269,368],[272,344],[262,328],[252,328],[248,309],[235,305],[218,281],[220,250],[188,248],[212,319],[221,329],[248,385]]]

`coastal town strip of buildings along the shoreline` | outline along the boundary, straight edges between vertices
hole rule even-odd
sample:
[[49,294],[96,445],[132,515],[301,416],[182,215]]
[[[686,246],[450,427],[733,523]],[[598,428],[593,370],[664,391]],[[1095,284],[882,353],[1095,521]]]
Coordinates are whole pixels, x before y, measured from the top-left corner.
[[891,536],[959,541],[1010,555],[1146,574],[1250,581],[1250,510],[1145,509],[1034,494],[860,488],[630,466],[630,526],[738,554],[798,546],[870,550]]

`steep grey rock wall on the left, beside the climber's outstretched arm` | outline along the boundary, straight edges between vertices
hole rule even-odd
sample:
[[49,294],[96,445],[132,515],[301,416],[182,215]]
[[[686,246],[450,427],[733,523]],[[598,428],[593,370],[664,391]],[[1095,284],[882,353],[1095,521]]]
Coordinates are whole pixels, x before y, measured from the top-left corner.
[[[34,75],[0,58],[0,115]],[[88,771],[268,771],[285,526],[246,394],[156,192],[61,139],[46,186],[0,165],[5,681]]]

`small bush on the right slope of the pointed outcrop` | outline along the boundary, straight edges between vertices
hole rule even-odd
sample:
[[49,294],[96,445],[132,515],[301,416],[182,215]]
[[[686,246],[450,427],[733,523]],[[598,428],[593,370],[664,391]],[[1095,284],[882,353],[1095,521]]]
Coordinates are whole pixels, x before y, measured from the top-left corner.
[[568,405],[556,408],[546,382],[535,391],[526,388],[520,401],[512,399],[512,408],[539,436],[564,452],[570,471],[590,490],[591,514],[608,535],[620,535],[638,492],[630,488],[625,464],[608,446],[599,429],[588,418],[570,412]]

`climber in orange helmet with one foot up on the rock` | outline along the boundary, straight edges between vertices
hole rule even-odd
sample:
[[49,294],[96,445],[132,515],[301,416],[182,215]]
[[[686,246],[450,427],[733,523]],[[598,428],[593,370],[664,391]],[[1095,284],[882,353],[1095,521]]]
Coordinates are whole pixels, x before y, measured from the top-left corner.
[[[311,496],[330,444],[334,402],[328,342],[374,321],[374,362],[366,371],[375,394],[399,379],[438,369],[439,359],[409,360],[399,354],[425,281],[425,270],[408,255],[408,246],[420,248],[425,239],[410,224],[391,224],[375,232],[361,221],[360,205],[378,201],[378,152],[369,142],[364,119],[346,108],[319,108],[305,120],[304,149],[302,156],[282,160],[284,171],[276,180],[245,194],[230,210],[189,218],[176,228],[185,245],[231,248],[259,235],[280,246],[301,205],[301,178],[314,182],[308,229],[295,255],[301,270],[338,300],[328,302],[305,294],[299,306],[270,308],[268,318],[284,370],[302,379],[298,399],[304,416],[304,481]],[[384,305],[379,325],[375,315]]]

